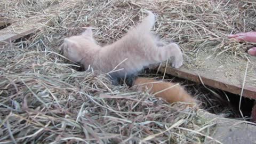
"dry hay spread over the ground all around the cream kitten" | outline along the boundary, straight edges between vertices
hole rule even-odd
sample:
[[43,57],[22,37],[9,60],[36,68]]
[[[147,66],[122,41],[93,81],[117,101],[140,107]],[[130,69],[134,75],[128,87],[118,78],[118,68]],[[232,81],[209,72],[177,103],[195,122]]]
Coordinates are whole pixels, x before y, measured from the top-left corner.
[[[53,14],[43,11],[50,5],[57,5]],[[194,110],[111,85],[97,71],[78,71],[58,47],[88,26],[97,28],[100,44],[112,43],[149,9],[157,14],[154,31],[178,42],[185,55],[225,51],[244,58],[252,44],[226,35],[255,30],[255,6],[238,0],[0,1],[0,14],[13,21],[39,14],[53,22],[1,44],[0,143],[202,143],[207,136],[200,127],[208,126]]]

